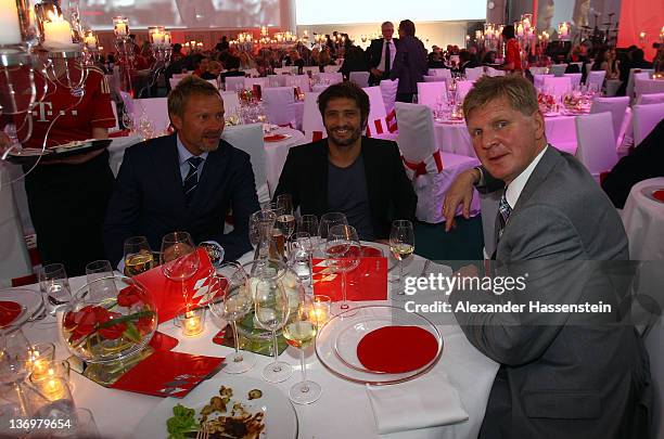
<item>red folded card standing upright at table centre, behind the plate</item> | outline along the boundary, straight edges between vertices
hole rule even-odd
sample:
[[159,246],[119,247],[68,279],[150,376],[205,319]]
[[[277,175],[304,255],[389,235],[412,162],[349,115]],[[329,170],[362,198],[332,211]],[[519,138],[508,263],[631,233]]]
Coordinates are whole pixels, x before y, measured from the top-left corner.
[[[327,268],[324,259],[314,259],[314,293],[342,299],[341,273]],[[387,258],[362,257],[359,266],[346,273],[348,300],[387,299]]]

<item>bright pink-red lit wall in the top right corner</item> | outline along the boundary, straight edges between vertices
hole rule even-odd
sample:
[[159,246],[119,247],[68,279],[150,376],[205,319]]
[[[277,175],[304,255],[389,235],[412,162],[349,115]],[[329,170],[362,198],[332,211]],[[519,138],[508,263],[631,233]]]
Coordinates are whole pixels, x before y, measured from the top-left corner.
[[[664,1],[623,0],[617,44],[621,48],[638,46],[646,52],[646,60],[652,61],[655,55],[652,43],[659,41],[662,26],[664,26]],[[646,33],[644,42],[639,40],[641,31]]]

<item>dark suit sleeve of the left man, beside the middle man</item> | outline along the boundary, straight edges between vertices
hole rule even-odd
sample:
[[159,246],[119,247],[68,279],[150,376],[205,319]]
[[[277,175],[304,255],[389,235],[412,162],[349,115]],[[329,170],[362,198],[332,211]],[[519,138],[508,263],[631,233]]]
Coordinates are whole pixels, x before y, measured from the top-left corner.
[[233,231],[224,234],[219,232],[216,241],[224,247],[224,260],[237,260],[252,249],[248,238],[248,220],[253,212],[260,209],[256,195],[256,182],[248,155],[242,153],[235,159],[235,179],[231,190],[231,209],[233,217]]

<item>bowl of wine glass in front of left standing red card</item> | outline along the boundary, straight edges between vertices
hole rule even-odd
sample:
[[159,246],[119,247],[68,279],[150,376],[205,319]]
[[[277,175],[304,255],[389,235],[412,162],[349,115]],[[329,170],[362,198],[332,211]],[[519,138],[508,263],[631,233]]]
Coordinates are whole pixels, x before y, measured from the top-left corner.
[[171,281],[183,283],[196,273],[201,261],[189,233],[173,232],[164,236],[161,262],[162,273]]

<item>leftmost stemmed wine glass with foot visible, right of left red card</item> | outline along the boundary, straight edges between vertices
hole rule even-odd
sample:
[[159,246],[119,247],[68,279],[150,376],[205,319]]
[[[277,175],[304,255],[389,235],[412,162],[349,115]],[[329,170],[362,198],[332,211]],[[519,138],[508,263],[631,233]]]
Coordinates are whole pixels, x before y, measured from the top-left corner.
[[[252,310],[254,300],[248,286],[248,276],[244,269],[237,263],[224,263],[216,270],[214,296],[208,301],[210,312],[218,319],[230,321],[235,341],[235,353],[232,361],[227,361],[224,372],[241,374],[254,366],[256,356],[252,352],[240,353],[238,337],[238,321]],[[219,300],[217,293],[221,294]]]

